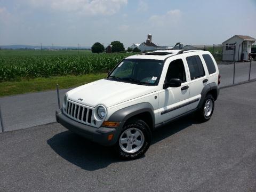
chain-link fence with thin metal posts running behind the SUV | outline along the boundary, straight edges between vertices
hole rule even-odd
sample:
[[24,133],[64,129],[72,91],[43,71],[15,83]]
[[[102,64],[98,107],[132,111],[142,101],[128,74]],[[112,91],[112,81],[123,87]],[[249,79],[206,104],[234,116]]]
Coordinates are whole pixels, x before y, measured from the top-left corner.
[[[218,62],[221,75],[220,87],[256,80],[256,61],[240,61],[241,47],[238,46],[238,51],[235,45],[226,47],[213,44],[194,47],[194,49],[207,50],[212,53]],[[229,52],[223,53],[226,49],[230,49]],[[223,60],[223,58],[229,59]],[[58,98],[62,100],[66,91],[68,90],[60,90]],[[54,122],[54,111],[60,106],[55,91],[0,98],[0,105],[0,133]]]

